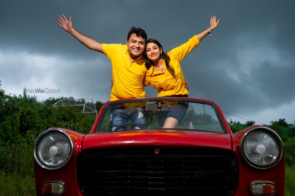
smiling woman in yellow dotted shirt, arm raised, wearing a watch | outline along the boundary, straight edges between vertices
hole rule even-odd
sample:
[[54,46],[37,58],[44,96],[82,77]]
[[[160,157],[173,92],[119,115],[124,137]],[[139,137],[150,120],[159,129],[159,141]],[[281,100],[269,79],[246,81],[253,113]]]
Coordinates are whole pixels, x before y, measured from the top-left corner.
[[[220,19],[216,22],[216,16],[210,20],[210,28],[193,36],[188,42],[164,53],[162,45],[155,39],[146,42],[145,66],[148,69],[144,85],[152,85],[158,90],[158,97],[176,96],[188,97],[189,92],[185,88],[180,61],[190,53],[199,42],[215,29]],[[188,105],[186,102],[179,103],[172,111],[159,113],[159,124],[163,128],[177,128],[186,114]]]

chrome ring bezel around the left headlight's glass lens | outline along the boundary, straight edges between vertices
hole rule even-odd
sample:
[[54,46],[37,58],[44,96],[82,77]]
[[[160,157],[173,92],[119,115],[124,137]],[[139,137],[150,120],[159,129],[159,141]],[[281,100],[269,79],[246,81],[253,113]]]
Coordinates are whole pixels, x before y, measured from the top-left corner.
[[[38,155],[38,148],[40,147],[40,141],[42,141],[43,138],[45,138],[51,134],[60,134],[60,136],[64,137],[70,145],[70,150],[69,150],[69,153],[66,157],[66,160],[63,161],[61,164],[55,165],[55,166],[46,165],[45,163],[42,162],[42,160],[40,160],[41,158]],[[71,160],[71,158],[73,157],[73,154],[74,154],[74,144],[73,144],[71,137],[65,131],[57,129],[57,128],[50,128],[50,129],[43,131],[37,137],[35,144],[34,144],[34,158],[35,158],[36,162],[41,167],[48,169],[48,170],[56,170],[56,169],[63,167],[64,165],[66,165],[68,163],[69,160]]]

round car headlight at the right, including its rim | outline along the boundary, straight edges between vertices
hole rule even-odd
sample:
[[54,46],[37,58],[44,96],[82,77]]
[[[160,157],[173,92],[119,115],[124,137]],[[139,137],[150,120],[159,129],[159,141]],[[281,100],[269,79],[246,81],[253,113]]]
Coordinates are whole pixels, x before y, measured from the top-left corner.
[[283,156],[281,138],[267,127],[254,128],[245,133],[240,146],[246,162],[259,169],[275,166]]

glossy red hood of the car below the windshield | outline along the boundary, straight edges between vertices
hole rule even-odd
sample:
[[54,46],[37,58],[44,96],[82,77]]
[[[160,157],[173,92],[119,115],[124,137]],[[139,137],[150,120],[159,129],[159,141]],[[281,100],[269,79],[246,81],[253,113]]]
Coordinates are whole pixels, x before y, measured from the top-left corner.
[[138,130],[94,133],[83,139],[82,150],[118,146],[195,146],[232,150],[230,134],[178,130]]

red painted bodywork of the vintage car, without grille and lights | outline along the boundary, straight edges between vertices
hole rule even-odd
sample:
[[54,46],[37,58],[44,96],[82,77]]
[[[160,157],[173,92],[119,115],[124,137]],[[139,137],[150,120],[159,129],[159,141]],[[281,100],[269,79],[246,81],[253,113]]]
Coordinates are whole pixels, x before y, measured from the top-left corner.
[[[260,125],[246,128],[238,133],[232,134],[221,109],[219,106],[217,107],[221,113],[221,118],[224,121],[228,134],[175,130],[139,130],[83,135],[71,130],[59,128],[68,133],[72,138],[75,153],[67,165],[58,170],[44,169],[34,161],[37,196],[42,195],[42,182],[48,180],[60,180],[65,182],[65,193],[63,195],[81,195],[77,185],[76,174],[76,164],[79,153],[87,149],[120,146],[177,146],[215,148],[232,151],[232,153],[237,156],[237,161],[239,163],[239,181],[237,183],[237,189],[234,192],[235,196],[250,196],[249,185],[253,180],[270,180],[276,184],[276,195],[284,195],[284,156],[275,167],[270,169],[255,169],[248,165],[240,155],[239,142],[248,130],[259,128]],[[94,128],[101,115],[101,111],[102,109],[99,112],[91,133],[94,133]]]

